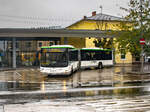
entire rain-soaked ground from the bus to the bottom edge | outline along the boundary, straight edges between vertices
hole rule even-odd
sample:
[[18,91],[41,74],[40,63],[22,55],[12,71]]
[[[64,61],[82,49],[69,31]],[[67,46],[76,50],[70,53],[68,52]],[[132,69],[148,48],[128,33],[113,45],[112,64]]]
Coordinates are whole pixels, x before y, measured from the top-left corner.
[[[0,72],[0,112],[149,112],[150,65],[49,76],[39,69]],[[19,109],[18,109],[19,108]]]

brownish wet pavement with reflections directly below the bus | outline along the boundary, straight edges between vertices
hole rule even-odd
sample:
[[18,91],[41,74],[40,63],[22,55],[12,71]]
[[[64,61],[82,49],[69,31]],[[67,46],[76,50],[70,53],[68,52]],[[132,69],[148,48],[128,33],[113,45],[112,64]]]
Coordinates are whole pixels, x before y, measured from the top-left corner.
[[[145,67],[149,70],[149,67]],[[138,66],[81,70],[71,76],[48,76],[39,69],[0,72],[0,91],[67,90],[85,87],[137,86],[150,81],[150,74],[129,74]],[[148,71],[145,69],[145,71]]]

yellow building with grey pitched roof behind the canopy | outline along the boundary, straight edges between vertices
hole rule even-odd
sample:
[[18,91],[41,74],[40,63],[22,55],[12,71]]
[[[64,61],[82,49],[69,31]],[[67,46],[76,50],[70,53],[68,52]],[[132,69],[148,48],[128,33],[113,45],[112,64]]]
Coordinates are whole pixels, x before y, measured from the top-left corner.
[[[119,25],[121,24],[121,21],[123,21],[123,18],[110,16],[106,14],[96,14],[96,12],[92,13],[91,17],[84,17],[80,21],[70,25],[67,27],[68,29],[76,29],[76,30],[121,30],[119,29]],[[67,38],[68,44],[73,45],[77,48],[89,48],[89,47],[95,47],[94,40],[96,38],[94,37],[85,37],[85,38],[74,38],[69,37]],[[115,37],[114,37],[115,39]],[[64,42],[64,39],[61,40],[61,42]],[[113,41],[114,42],[114,41]],[[116,63],[132,63],[132,55],[129,52],[126,52],[122,54],[117,49],[117,43],[114,43],[114,59]],[[123,56],[124,55],[124,56]]]

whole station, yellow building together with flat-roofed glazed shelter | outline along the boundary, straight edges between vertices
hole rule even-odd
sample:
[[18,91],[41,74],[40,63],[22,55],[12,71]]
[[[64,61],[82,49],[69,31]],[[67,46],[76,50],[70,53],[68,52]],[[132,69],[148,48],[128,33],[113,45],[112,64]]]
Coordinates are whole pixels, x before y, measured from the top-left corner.
[[[39,52],[42,46],[70,44],[76,48],[95,47],[93,41],[107,38],[106,33],[103,32],[121,30],[118,25],[122,21],[123,18],[92,12],[92,16],[84,16],[83,19],[60,31],[49,29],[6,29],[6,31],[4,29],[2,31],[0,29],[0,67],[39,66]],[[13,43],[14,37],[15,43]],[[112,49],[116,63],[132,63],[132,55],[129,52],[118,52],[117,43]]]

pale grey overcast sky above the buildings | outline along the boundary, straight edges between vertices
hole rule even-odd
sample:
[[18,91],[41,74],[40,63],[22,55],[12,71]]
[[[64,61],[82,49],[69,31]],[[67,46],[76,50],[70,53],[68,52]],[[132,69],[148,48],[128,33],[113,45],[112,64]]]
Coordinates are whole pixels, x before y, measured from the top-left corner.
[[92,11],[122,17],[129,0],[0,0],[0,28],[68,26]]

